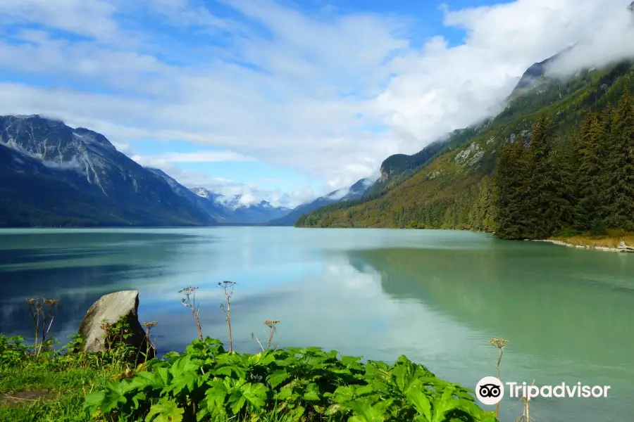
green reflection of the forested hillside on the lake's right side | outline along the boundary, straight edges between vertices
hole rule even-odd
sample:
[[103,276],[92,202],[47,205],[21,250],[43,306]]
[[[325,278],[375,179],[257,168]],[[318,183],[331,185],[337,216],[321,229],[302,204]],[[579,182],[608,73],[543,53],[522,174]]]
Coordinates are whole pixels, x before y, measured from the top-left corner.
[[[493,375],[491,358],[497,351],[485,354],[485,342],[508,338],[511,344],[502,364],[507,380],[612,386],[612,397],[603,401],[537,399],[531,410],[535,417],[555,420],[554,415],[566,414],[566,420],[583,420],[590,412],[606,421],[631,418],[634,257],[521,246],[452,254],[358,250],[349,255],[355,268],[369,265],[380,274],[381,287],[392,300],[414,300],[468,328],[471,340],[469,335],[456,339],[452,333],[440,340],[447,362],[434,364],[447,378],[475,385],[481,376]],[[414,315],[411,321],[419,324]],[[511,405],[507,399],[502,403]],[[503,414],[511,418],[518,411],[506,409]]]

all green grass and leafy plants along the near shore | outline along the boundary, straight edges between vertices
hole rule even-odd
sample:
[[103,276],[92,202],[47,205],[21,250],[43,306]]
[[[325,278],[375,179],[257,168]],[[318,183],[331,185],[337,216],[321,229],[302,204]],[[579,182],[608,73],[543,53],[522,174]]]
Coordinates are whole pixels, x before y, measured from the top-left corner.
[[[23,338],[0,335],[0,420],[497,421],[471,390],[404,356],[388,365],[318,347],[238,354],[208,337],[130,369],[73,351],[78,341],[36,356]],[[46,394],[3,401],[25,390]]]

